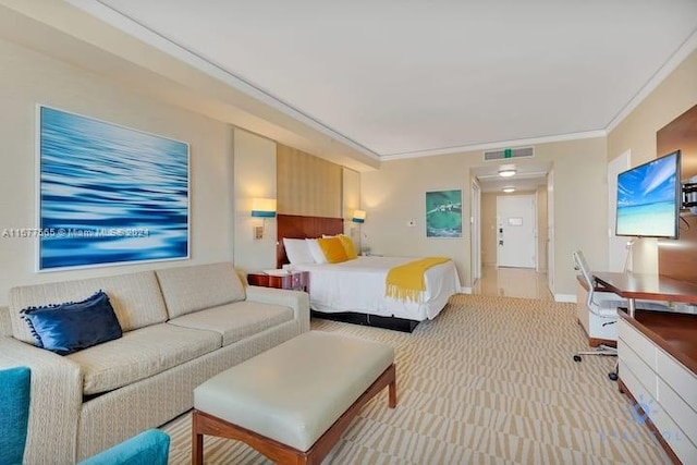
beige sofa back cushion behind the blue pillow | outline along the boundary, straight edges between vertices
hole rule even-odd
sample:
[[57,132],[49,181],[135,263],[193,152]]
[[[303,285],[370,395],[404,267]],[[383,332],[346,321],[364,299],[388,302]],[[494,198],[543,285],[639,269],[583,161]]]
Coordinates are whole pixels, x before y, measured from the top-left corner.
[[22,309],[84,301],[99,290],[109,295],[123,331],[132,331],[167,320],[167,309],[155,272],[145,271],[11,289],[10,318],[14,338],[36,344],[26,321],[20,315]]

